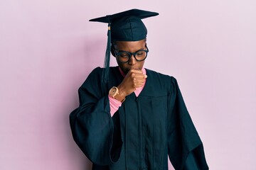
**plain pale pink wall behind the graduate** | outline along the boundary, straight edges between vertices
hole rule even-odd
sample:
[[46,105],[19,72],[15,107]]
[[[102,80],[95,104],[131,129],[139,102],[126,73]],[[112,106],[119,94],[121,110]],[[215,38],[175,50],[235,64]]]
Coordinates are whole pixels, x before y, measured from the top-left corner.
[[88,20],[129,8],[160,13],[145,67],[178,79],[210,169],[255,169],[255,0],[1,1],[0,169],[90,169],[68,121],[105,55]]

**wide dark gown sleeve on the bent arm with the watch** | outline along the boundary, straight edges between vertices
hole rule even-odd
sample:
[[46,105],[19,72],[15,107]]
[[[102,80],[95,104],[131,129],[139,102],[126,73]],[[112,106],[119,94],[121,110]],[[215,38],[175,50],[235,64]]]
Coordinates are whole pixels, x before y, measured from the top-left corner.
[[119,114],[110,115],[110,101],[102,93],[102,69],[97,67],[78,90],[80,106],[70,113],[70,128],[78,147],[94,164],[117,162],[122,148]]

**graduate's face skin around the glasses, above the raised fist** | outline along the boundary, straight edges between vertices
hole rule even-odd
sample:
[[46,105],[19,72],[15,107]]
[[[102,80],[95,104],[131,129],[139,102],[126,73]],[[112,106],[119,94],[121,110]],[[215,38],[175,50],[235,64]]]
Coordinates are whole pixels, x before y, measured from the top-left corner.
[[[114,45],[114,48],[119,51],[127,51],[127,52],[137,52],[138,50],[146,50],[146,40],[139,40],[139,41],[117,41]],[[114,52],[112,52],[114,55]],[[117,58],[116,58],[117,60]],[[117,60],[117,64],[122,69],[124,74],[127,74],[130,69],[142,69],[145,60],[142,62],[138,62],[134,56],[130,58],[129,62],[122,63]]]

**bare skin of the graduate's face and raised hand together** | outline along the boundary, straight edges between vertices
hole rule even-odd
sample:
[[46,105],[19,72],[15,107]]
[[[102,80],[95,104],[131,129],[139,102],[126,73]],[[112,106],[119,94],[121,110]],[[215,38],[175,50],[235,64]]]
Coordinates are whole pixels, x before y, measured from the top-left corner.
[[[117,41],[114,45],[114,48],[119,51],[122,50],[127,52],[137,52],[138,50],[145,50],[146,40]],[[112,55],[114,56],[113,50]],[[117,88],[119,89],[118,98],[120,98],[120,101],[122,101],[122,98],[125,98],[125,96],[132,94],[132,92],[134,92],[136,88],[143,86],[147,77],[142,72],[144,62],[145,60],[142,62],[137,62],[134,56],[132,56],[129,62],[126,63],[121,63],[117,60],[117,64],[126,75],[121,84],[117,86]]]

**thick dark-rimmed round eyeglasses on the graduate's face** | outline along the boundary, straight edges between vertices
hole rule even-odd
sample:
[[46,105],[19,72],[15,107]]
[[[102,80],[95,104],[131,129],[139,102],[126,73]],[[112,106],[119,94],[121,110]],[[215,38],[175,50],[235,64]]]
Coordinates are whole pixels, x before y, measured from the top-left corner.
[[[114,49],[114,46],[113,46],[113,49]],[[127,52],[127,51],[116,52],[116,49],[114,49],[115,57],[117,57],[117,60],[122,63],[129,62],[132,55],[134,56],[135,60],[137,60],[137,62],[142,62],[143,60],[146,59],[148,52],[149,52],[148,47],[146,47],[146,50],[138,50],[137,52]]]

